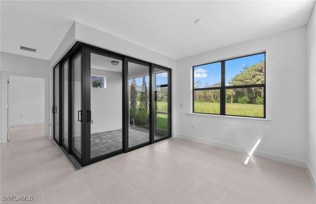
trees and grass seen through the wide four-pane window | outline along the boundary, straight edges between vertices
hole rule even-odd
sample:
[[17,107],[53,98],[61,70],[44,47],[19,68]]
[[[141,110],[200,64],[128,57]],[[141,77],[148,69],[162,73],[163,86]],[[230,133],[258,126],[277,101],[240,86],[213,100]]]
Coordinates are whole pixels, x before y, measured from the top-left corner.
[[[243,71],[233,77],[226,86],[265,83],[265,61],[252,66],[244,66]],[[218,87],[219,83],[203,86],[195,82],[195,88]],[[220,114],[220,89],[195,90],[194,112]],[[264,116],[264,88],[232,88],[226,89],[226,115]]]

